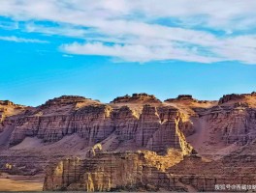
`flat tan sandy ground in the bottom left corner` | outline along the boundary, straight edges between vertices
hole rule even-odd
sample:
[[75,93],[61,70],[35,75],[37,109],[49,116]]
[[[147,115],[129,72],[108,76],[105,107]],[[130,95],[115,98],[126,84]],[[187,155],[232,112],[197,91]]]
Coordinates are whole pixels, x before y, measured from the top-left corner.
[[16,176],[2,174],[0,176],[0,191],[42,191],[44,177],[38,176]]

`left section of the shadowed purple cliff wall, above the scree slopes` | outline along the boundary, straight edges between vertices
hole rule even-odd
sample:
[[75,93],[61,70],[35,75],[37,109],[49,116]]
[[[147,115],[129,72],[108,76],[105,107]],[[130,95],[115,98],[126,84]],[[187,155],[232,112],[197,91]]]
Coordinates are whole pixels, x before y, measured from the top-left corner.
[[63,136],[79,133],[95,143],[106,138],[111,132],[111,108],[106,105],[89,105],[68,115],[32,115],[16,120],[11,145],[21,142],[26,136],[37,136],[45,142],[56,142]]

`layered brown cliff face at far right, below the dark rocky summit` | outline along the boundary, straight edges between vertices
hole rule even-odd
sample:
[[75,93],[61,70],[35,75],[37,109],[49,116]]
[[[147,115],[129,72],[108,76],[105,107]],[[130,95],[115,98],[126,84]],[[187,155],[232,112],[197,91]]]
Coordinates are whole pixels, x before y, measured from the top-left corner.
[[208,127],[222,134],[227,144],[245,145],[256,137],[256,109],[235,103],[233,107],[218,106],[208,113]]

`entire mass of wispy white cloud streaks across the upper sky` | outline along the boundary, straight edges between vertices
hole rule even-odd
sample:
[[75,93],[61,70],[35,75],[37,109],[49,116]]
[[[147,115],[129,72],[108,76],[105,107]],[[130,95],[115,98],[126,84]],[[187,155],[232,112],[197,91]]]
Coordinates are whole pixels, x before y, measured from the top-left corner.
[[23,30],[28,33],[83,41],[63,42],[61,50],[69,54],[131,62],[256,64],[256,2],[251,0],[2,0],[0,4],[0,15],[25,21]]

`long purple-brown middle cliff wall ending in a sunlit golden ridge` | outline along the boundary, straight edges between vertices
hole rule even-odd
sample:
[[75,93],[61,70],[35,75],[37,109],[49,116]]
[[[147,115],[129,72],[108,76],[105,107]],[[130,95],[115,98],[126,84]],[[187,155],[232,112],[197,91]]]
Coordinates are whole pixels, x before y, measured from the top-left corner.
[[127,105],[114,107],[84,100],[67,96],[55,98],[29,115],[17,118],[10,145],[14,146],[26,137],[56,142],[66,135],[78,133],[87,146],[92,146],[114,133],[118,141],[115,147],[112,145],[112,151],[119,143],[128,140],[134,141],[138,148],[159,153],[168,148],[186,153],[192,150],[180,131],[191,129],[192,124],[172,106],[142,104],[143,110],[138,114]]

